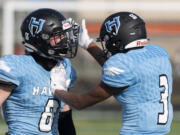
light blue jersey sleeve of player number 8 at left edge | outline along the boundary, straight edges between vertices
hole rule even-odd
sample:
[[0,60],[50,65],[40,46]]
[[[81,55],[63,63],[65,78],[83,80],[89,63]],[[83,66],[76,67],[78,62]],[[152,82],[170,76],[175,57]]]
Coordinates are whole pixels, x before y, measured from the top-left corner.
[[0,58],[0,80],[5,83],[13,83],[19,85],[18,72],[16,68],[16,61],[11,56],[4,56]]

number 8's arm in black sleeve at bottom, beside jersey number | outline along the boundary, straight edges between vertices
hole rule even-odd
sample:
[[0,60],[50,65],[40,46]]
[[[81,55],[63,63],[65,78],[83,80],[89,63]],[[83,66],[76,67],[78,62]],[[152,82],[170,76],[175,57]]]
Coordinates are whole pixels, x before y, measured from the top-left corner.
[[60,135],[76,135],[72,119],[72,110],[69,105],[65,105],[59,114],[58,130]]

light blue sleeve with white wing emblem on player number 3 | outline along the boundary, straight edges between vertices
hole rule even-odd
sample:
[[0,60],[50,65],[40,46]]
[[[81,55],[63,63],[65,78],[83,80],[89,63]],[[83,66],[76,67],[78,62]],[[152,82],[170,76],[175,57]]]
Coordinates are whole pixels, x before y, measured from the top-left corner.
[[130,58],[122,55],[110,57],[102,68],[102,81],[110,87],[121,88],[136,82]]

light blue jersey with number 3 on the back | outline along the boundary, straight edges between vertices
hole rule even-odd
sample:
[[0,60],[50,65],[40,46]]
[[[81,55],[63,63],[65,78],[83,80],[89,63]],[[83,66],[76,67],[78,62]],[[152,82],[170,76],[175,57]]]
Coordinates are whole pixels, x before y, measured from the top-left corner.
[[173,119],[172,68],[165,49],[148,44],[111,56],[102,69],[111,87],[129,86],[114,95],[122,104],[120,135],[165,135]]

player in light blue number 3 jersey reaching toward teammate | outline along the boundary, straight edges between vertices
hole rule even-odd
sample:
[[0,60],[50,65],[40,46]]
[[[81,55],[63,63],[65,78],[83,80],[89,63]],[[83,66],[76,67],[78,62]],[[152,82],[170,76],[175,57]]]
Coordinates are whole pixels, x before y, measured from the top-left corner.
[[[165,135],[173,119],[172,69],[167,51],[148,43],[145,22],[131,12],[105,19],[98,41],[82,21],[79,45],[102,65],[100,84],[86,93],[56,90],[55,96],[83,109],[111,96],[122,105],[120,135]],[[61,81],[61,84],[62,81]]]

